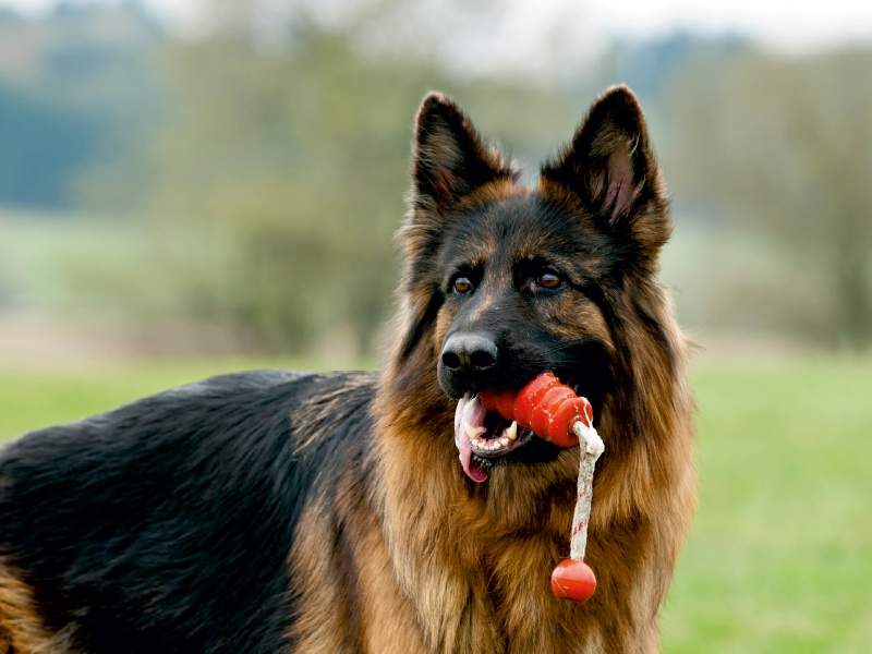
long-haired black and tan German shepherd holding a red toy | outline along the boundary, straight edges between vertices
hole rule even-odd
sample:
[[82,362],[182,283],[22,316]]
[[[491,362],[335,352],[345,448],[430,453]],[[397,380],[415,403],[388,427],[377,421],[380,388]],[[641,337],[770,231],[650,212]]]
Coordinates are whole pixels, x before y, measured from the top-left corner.
[[[428,95],[384,372],[233,374],[5,446],[0,652],[657,651],[695,497],[670,230],[626,87],[535,187]],[[546,371],[606,445],[583,605],[549,588],[579,448],[455,427]]]

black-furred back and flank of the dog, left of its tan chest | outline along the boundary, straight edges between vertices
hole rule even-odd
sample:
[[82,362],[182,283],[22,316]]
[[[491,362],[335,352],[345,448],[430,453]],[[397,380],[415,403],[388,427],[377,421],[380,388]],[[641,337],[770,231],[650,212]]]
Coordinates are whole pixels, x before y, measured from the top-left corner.
[[227,375],[0,450],[0,652],[281,650],[298,519],[374,382]]

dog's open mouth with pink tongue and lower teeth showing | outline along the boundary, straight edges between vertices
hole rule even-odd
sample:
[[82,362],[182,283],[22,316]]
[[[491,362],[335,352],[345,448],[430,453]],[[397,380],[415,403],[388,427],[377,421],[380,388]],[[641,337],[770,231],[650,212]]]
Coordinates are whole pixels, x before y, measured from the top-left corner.
[[463,472],[473,482],[484,482],[495,460],[526,445],[533,432],[484,408],[477,395],[467,393],[455,413],[455,444]]

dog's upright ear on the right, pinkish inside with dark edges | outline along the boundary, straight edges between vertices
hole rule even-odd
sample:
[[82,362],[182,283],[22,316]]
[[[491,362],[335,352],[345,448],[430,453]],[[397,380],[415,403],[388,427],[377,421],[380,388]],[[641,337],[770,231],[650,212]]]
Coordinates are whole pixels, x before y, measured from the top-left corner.
[[630,229],[654,251],[669,238],[669,203],[642,108],[627,86],[600,96],[569,146],[542,167],[541,184],[545,195],[570,191],[596,219]]

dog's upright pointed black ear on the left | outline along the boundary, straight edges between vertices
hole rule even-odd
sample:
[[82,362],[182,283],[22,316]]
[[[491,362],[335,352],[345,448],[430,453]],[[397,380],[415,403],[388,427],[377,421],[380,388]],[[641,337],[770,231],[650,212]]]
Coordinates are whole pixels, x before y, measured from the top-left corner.
[[487,147],[460,108],[438,93],[424,98],[415,121],[413,203],[444,214],[479,186],[514,173]]

